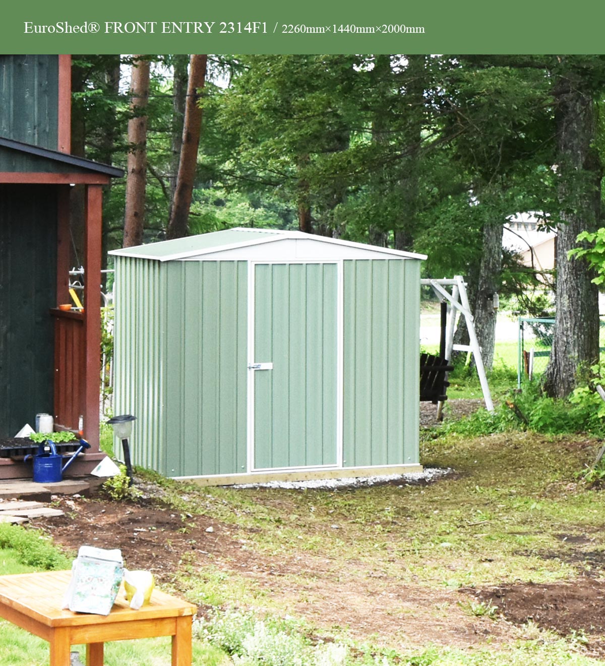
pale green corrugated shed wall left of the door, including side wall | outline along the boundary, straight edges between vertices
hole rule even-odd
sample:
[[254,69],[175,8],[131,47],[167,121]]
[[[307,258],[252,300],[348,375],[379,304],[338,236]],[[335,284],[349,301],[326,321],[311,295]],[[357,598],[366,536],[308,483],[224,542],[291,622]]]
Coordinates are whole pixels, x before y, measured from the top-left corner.
[[247,263],[116,258],[116,410],[133,460],[168,476],[246,470]]

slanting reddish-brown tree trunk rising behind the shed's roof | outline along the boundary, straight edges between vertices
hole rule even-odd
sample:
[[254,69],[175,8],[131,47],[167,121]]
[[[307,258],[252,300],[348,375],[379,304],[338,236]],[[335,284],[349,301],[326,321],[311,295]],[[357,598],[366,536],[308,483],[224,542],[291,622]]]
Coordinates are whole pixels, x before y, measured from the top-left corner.
[[189,209],[193,196],[197,151],[202,131],[202,91],[206,83],[207,55],[192,55],[189,63],[189,83],[187,85],[187,103],[183,122],[183,146],[179,161],[177,187],[173,198],[167,238],[187,236]]

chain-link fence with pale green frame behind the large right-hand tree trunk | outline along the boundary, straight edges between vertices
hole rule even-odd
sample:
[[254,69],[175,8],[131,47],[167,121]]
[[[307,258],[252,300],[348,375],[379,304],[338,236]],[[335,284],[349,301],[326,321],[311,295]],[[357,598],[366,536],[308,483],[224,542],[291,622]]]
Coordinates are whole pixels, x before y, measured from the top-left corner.
[[[552,340],[554,338],[554,319],[519,317],[519,344],[517,387],[521,388],[524,378],[533,379],[541,376],[548,365]],[[605,318],[600,320],[600,349],[605,352]]]

